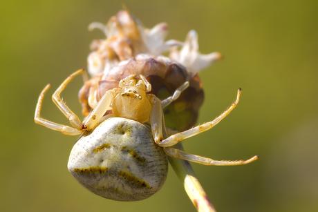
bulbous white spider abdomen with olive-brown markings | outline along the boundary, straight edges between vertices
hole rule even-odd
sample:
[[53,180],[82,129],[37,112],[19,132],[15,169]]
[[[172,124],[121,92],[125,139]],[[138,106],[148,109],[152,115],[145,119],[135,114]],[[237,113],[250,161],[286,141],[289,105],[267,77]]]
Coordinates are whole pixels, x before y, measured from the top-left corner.
[[106,119],[73,146],[68,170],[87,189],[112,200],[143,200],[167,177],[167,156],[140,122]]

